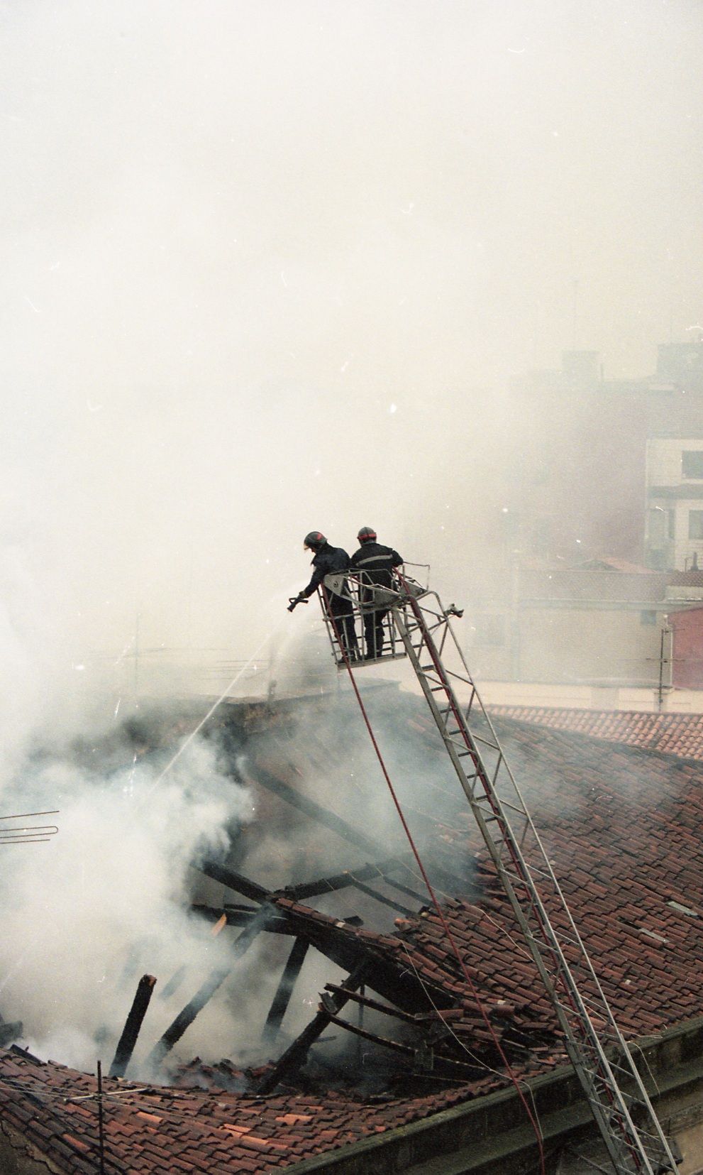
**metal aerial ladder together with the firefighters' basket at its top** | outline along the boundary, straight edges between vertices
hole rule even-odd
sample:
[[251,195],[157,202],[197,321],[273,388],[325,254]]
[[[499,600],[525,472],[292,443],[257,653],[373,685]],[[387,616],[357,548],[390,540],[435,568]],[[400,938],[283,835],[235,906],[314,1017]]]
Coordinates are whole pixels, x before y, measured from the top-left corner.
[[[347,616],[351,607],[357,632],[357,643],[351,647],[349,624],[343,627],[338,607],[330,606],[331,592],[342,595]],[[338,669],[347,669],[353,677],[361,666],[399,657],[412,664],[556,1014],[567,1054],[614,1170],[617,1175],[676,1173],[676,1160],[633,1054],[453,631],[451,617],[461,613],[453,604],[445,609],[437,592],[400,570],[394,572],[392,588],[364,583],[358,575],[347,573],[327,577],[319,595]],[[370,609],[383,613],[386,652],[380,657],[364,646],[364,620]]]

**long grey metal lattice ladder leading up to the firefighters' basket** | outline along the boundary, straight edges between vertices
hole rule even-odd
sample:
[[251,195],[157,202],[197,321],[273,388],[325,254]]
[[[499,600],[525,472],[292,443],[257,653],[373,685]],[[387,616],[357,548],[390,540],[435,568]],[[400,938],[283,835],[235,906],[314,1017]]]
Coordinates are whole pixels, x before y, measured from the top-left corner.
[[[594,972],[573,922],[572,935],[575,936],[557,932],[550,921],[550,909],[543,905],[545,899],[549,898],[555,904],[559,900],[570,919],[566,899],[539,839],[536,845],[533,844],[529,812],[491,723],[482,723],[486,713],[464,657],[461,660],[466,673],[455,673],[442,663],[445,647],[449,644],[447,636],[451,633],[447,617],[444,612],[440,615],[427,607],[427,603],[426,600],[419,611],[417,607],[408,610],[405,605],[393,607],[394,623],[411,653],[411,663],[461,787],[481,826],[484,840],[495,862],[498,880],[519,914],[523,941],[542,975],[552,1006],[559,1014],[569,1056],[586,1087],[586,1096],[594,1108],[599,1128],[606,1142],[609,1139],[617,1142],[615,1150],[622,1153],[627,1170],[630,1167],[633,1170],[650,1169],[637,1128],[629,1120],[629,1108],[635,1106],[635,1100],[630,1095],[626,1097],[616,1074],[628,1089],[633,1087],[640,1092],[642,1106],[647,1106],[647,1090],[627,1048],[622,1065],[607,1056],[607,1047],[609,1052],[613,1043],[618,1046],[613,1013],[604,996],[599,1002],[597,998],[586,994],[590,986],[589,976]],[[432,658],[431,663],[425,662],[427,656]],[[459,703],[454,683],[468,687],[468,704],[466,700]],[[435,700],[435,693],[444,693],[444,698],[438,697]],[[467,757],[469,764],[465,770],[460,760]],[[503,793],[512,797],[512,801],[503,799]],[[511,821],[514,821],[514,828]],[[523,848],[530,853],[536,852],[539,864],[529,864],[522,857]],[[548,902],[549,907],[552,901]],[[581,988],[582,976],[584,989]],[[615,1030],[615,1039],[611,1029]],[[616,1056],[621,1056],[620,1052],[616,1052]],[[630,1070],[627,1069],[628,1062],[631,1065]],[[644,1124],[647,1129],[651,1129],[653,1124],[658,1129],[651,1109]],[[647,1139],[653,1156],[657,1157],[651,1167],[656,1166],[658,1169],[661,1159],[669,1170],[671,1160],[662,1135],[654,1142],[645,1132],[643,1137]]]

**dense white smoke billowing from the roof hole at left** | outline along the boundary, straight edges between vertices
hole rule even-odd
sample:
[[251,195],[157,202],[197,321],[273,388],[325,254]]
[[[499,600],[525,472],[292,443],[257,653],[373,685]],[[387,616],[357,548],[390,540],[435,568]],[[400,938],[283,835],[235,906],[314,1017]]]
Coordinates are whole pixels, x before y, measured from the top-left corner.
[[142,969],[163,987],[181,966],[192,983],[227,964],[223,939],[188,913],[189,866],[227,850],[251,798],[205,743],[160,779],[162,768],[135,758],[106,778],[100,763],[49,758],[6,792],[23,810],[59,810],[43,819],[59,825],[52,841],[0,847],[0,1001],[42,1056],[89,1068],[96,1049],[114,1049]]

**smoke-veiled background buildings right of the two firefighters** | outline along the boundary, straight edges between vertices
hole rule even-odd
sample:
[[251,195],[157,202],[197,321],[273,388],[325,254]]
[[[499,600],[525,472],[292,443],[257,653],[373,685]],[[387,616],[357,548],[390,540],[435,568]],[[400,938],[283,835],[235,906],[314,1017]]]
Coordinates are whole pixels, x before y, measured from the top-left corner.
[[660,691],[703,679],[701,612],[685,626],[685,673],[669,630],[703,595],[701,338],[660,347],[640,381],[607,381],[596,352],[567,351],[519,390],[534,410],[508,438],[505,505],[472,571],[472,667]]

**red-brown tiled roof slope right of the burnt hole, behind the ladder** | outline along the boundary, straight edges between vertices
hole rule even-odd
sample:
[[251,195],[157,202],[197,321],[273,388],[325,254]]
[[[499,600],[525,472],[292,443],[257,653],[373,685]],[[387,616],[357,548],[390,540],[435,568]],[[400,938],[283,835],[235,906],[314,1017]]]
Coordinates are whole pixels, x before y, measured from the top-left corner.
[[[703,976],[695,974],[703,956],[703,772],[629,747],[590,739],[584,746],[570,732],[536,732],[505,719],[500,732],[623,1030],[644,1034],[685,1020],[703,1002]],[[475,854],[482,894],[475,901],[449,900],[444,911],[471,960],[481,1001],[501,1020],[507,1039],[511,1029],[548,1030],[547,999],[516,942],[478,832],[466,834],[465,847]],[[304,907],[292,912],[311,921],[325,916]],[[552,913],[557,921],[559,913]],[[461,1010],[452,1019],[454,1032],[481,1040],[486,1029],[437,914],[404,919],[403,926],[391,938],[332,925],[325,936],[365,944],[399,974],[410,967],[440,1008],[444,999]],[[445,1042],[447,1055],[459,1060],[461,1049],[454,1046]],[[553,1061],[560,1059],[556,1049]]]

